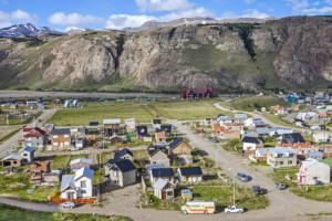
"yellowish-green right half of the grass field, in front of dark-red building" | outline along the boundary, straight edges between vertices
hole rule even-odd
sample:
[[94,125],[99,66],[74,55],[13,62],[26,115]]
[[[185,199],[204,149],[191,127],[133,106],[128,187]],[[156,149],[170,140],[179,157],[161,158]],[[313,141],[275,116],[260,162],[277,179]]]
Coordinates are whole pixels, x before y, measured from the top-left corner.
[[162,117],[170,119],[204,119],[222,114],[220,109],[214,107],[212,104],[216,102],[219,99],[164,101],[151,103],[149,106]]

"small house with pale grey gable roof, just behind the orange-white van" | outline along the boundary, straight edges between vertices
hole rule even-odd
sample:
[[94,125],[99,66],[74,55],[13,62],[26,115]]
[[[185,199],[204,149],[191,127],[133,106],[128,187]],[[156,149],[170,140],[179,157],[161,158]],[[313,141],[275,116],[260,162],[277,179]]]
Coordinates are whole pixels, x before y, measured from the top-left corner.
[[163,201],[174,199],[174,186],[164,179],[158,179],[154,185],[154,196]]

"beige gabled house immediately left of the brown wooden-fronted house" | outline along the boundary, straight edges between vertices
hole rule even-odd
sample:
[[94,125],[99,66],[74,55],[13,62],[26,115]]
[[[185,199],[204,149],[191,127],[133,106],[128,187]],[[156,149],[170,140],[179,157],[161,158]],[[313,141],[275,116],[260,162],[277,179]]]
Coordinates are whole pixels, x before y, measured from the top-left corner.
[[148,147],[147,154],[151,165],[164,165],[165,167],[170,166],[170,158],[166,146],[151,145]]

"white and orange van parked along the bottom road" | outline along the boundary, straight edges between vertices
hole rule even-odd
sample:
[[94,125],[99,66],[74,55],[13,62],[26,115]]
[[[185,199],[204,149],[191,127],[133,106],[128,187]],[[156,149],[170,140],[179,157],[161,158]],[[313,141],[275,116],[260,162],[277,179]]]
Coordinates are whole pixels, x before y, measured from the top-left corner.
[[204,213],[211,214],[216,211],[216,203],[214,201],[194,200],[187,201],[185,206],[181,206],[181,212],[184,214]]

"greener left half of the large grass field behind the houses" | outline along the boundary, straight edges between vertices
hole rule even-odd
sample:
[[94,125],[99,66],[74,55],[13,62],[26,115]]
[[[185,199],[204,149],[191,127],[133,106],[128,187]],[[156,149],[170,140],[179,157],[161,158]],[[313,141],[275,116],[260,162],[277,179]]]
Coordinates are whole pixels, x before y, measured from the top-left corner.
[[149,123],[153,114],[144,102],[107,102],[83,103],[83,108],[60,109],[48,123],[56,126],[89,125],[89,122],[120,118],[122,123],[127,118],[136,118],[136,123]]

